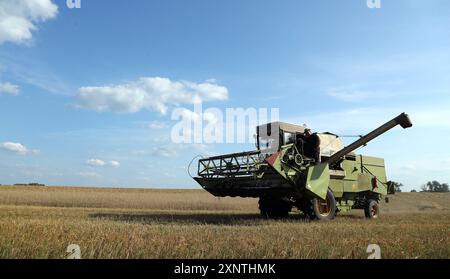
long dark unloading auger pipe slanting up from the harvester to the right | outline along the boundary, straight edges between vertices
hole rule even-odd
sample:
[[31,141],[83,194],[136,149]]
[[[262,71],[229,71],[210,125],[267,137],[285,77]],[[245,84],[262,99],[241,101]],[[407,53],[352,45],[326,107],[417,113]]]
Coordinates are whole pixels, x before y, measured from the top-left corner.
[[368,133],[365,136],[362,136],[357,141],[353,142],[352,144],[344,147],[343,149],[339,150],[338,152],[334,153],[333,155],[326,160],[329,164],[333,164],[337,161],[339,161],[341,158],[343,158],[348,153],[356,150],[357,148],[367,144],[369,141],[373,140],[374,138],[386,133],[390,129],[394,128],[395,126],[400,125],[403,129],[412,127],[411,120],[409,119],[409,116],[406,113],[402,113],[399,116],[395,117],[389,122],[386,122],[385,124],[381,125],[377,129],[373,130],[372,132]]

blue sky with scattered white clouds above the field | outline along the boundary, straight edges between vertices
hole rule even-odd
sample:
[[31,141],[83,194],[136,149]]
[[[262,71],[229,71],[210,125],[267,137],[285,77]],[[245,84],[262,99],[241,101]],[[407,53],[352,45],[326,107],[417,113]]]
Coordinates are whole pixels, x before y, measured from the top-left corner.
[[406,111],[358,152],[406,190],[450,182],[450,2],[381,4],[0,0],[0,183],[197,187],[192,157],[252,145],[171,144],[190,97],[337,134]]

